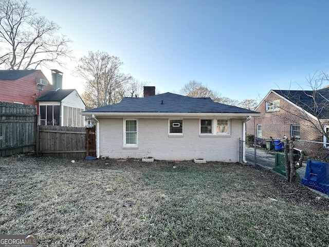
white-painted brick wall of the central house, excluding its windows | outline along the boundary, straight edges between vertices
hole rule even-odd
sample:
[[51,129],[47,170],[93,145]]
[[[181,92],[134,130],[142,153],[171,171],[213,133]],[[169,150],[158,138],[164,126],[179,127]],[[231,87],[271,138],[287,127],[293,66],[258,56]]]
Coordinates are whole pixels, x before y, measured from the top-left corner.
[[[178,119],[178,118],[177,118]],[[200,137],[199,119],[184,119],[184,136],[169,135],[168,119],[138,119],[138,149],[123,148],[123,119],[98,118],[100,155],[111,158],[154,157],[156,160],[238,162],[243,119],[231,119],[230,136]]]

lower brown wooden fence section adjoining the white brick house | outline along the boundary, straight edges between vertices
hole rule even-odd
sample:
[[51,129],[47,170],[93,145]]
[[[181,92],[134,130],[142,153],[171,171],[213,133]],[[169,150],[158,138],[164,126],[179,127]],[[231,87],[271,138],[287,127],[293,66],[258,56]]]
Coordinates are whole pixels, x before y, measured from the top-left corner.
[[85,158],[96,155],[95,127],[38,126],[37,155]]

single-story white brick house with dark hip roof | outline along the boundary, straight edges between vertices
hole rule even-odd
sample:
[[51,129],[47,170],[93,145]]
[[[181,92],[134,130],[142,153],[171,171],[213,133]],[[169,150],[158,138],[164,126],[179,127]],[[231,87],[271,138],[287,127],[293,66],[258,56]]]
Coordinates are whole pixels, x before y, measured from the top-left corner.
[[259,113],[172,93],[123,98],[82,113],[97,122],[97,156],[238,162],[245,122]]

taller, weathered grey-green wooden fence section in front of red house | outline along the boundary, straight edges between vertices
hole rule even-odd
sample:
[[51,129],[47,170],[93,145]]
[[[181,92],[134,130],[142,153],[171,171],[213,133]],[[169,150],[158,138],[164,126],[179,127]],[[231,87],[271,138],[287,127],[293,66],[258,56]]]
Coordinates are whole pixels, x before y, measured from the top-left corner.
[[35,105],[0,102],[0,157],[35,150]]

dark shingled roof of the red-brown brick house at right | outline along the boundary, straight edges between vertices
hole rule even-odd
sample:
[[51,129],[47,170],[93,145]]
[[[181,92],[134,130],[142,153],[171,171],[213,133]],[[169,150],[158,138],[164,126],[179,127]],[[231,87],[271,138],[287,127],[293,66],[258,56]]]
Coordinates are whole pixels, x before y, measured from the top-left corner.
[[273,92],[293,102],[308,113],[318,116],[320,119],[329,119],[329,87],[317,91],[273,90]]

